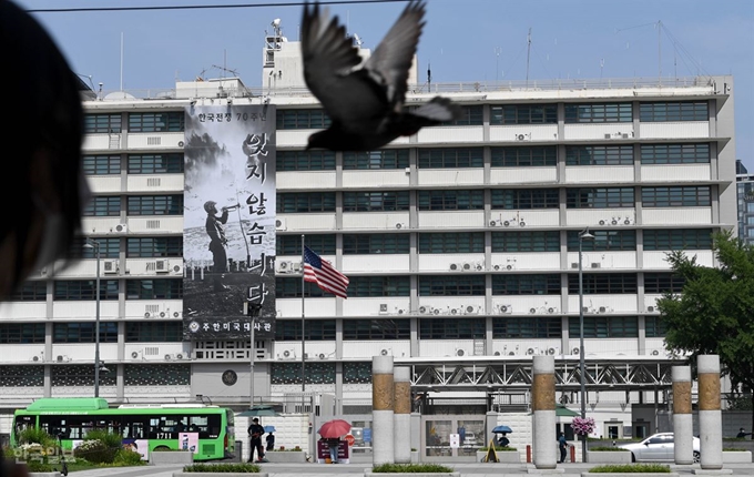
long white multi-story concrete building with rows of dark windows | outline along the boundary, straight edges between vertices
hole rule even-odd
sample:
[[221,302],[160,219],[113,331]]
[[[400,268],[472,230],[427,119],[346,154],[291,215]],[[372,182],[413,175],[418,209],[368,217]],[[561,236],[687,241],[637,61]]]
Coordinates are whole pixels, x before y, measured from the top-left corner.
[[[268,38],[261,88],[224,79],[84,101],[83,233],[100,260],[82,250],[0,306],[3,426],[37,397],[92,395],[98,262],[102,397],[248,403],[249,336],[183,338],[184,114],[232,103],[276,109],[277,316],[275,339],[255,339],[257,400],[332,394],[338,414],[367,414],[370,359],[390,354],[412,366],[417,409],[481,422],[524,409],[531,355],[551,354],[558,398],[578,402],[583,314],[591,410],[600,390],[603,405],[619,396],[600,434],[654,430],[624,404],[664,403],[654,305],[681,286],[665,253],[714,265],[711,232],[736,227],[733,79],[416,84],[409,106],[440,93],[462,116],[340,154],[305,151],[327,118],[296,53]],[[304,287],[305,332],[302,234],[350,278],[347,301]]]

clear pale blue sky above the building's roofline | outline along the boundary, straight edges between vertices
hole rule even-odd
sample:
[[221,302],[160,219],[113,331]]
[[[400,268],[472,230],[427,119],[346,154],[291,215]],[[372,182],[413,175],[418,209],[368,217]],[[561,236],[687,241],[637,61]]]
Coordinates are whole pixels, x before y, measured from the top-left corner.
[[[405,2],[357,1],[330,12],[374,50]],[[170,89],[197,75],[237,74],[261,87],[265,30],[279,18],[283,34],[297,41],[303,11],[272,7],[295,0],[16,2],[26,10],[245,6],[32,12],[73,71],[105,92]],[[432,83],[732,74],[736,158],[754,171],[754,0],[428,0],[426,21],[420,82],[428,65]]]

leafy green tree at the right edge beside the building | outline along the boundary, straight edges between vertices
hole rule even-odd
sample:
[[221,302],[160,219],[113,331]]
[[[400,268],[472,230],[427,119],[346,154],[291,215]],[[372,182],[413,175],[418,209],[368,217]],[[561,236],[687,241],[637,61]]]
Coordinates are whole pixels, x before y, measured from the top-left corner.
[[[721,371],[734,389],[754,390],[754,247],[732,236],[713,234],[719,267],[696,263],[683,251],[668,255],[684,278],[681,294],[658,301],[665,326],[665,348],[690,362],[701,354],[720,355]],[[754,404],[754,394],[752,395]],[[754,412],[752,413],[754,427]],[[754,436],[752,436],[754,438]]]

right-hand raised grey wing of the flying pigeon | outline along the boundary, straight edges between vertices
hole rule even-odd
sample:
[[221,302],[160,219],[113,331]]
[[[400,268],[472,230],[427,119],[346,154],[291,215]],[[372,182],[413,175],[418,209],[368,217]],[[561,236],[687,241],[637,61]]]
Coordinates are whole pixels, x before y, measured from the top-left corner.
[[400,111],[406,98],[408,70],[425,24],[421,21],[424,16],[424,1],[411,1],[406,6],[364,67],[375,81],[387,88],[388,101],[396,112]]

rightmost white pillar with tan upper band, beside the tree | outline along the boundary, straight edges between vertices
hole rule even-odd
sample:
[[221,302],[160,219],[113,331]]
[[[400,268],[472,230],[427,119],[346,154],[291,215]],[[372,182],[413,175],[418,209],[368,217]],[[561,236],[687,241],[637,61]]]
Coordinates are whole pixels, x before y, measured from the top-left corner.
[[699,438],[702,469],[723,468],[723,417],[720,412],[720,356],[700,355],[699,373]]

